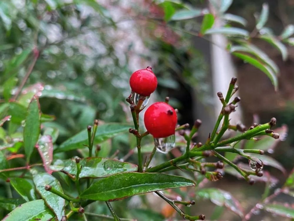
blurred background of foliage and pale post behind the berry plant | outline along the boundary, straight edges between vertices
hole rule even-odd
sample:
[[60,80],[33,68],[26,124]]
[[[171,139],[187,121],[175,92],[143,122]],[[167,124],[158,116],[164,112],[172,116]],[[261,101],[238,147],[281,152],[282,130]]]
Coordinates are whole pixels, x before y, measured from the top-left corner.
[[[267,27],[274,33],[282,32],[294,22],[293,0],[266,2],[269,5]],[[234,0],[228,13],[245,18],[246,29],[252,31],[254,14],[260,12],[263,3],[261,0]],[[59,129],[58,145],[92,124],[95,118],[101,122],[131,122],[125,102],[130,94],[129,77],[135,70],[151,65],[158,78],[158,88],[149,105],[169,96],[170,104],[179,111],[179,124],[193,125],[197,118],[202,120],[203,126],[195,142],[204,143],[221,108],[216,93],[225,94],[231,77],[237,76],[241,102],[232,121],[243,122],[249,127],[253,122],[265,123],[275,116],[278,128],[284,125],[280,128],[279,142],[263,144],[267,154],[277,160],[276,168],[265,166],[273,179],[270,182],[273,191],[283,184],[294,165],[294,48],[287,46],[288,58],[283,61],[278,50],[260,39],[252,39],[252,43],[268,54],[280,69],[278,91],[275,91],[264,73],[228,53],[226,37],[193,34],[193,30],[201,26],[202,18],[165,22],[168,13],[177,10],[181,4],[211,7],[204,0],[1,0],[0,85],[11,77],[14,77],[10,81],[12,84],[19,84],[17,82],[24,78],[34,60],[32,51],[39,50],[26,86],[32,85],[34,90],[38,90],[40,83],[44,86],[40,96],[41,110],[56,117],[46,125]],[[101,146],[104,145],[106,156],[119,150],[118,159],[123,159],[135,147],[134,142],[125,134]],[[148,142],[152,139],[149,138],[146,144]],[[153,163],[176,154],[176,151],[167,156],[157,153]],[[137,161],[136,156],[126,160]],[[226,174],[218,182],[201,182],[201,185],[229,191],[246,214],[260,200],[266,184],[257,182],[249,186],[244,180]],[[207,219],[213,219],[214,215],[217,220],[241,220],[232,206],[203,198],[196,198],[196,206],[186,209],[191,213],[206,214]],[[287,195],[275,200],[294,205],[294,199]],[[146,205],[150,205],[151,210]],[[114,207],[120,216],[138,220],[173,220],[177,217],[153,194],[124,199],[115,202]],[[107,212],[104,204],[97,203],[91,209]],[[250,220],[289,218],[255,211]]]

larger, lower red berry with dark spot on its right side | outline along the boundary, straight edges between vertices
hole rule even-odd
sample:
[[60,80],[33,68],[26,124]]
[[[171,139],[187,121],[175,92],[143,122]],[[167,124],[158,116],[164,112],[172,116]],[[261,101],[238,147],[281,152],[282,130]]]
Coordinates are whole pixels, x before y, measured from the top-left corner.
[[165,102],[152,104],[145,112],[144,123],[154,138],[168,137],[175,134],[177,113]]

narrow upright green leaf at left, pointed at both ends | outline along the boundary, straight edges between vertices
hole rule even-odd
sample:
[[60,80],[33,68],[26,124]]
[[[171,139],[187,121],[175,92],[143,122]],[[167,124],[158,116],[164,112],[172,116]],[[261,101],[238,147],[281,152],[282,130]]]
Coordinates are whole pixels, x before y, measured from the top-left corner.
[[26,126],[24,127],[24,151],[26,160],[29,162],[31,154],[39,139],[41,130],[40,105],[37,97],[31,100],[26,115]]

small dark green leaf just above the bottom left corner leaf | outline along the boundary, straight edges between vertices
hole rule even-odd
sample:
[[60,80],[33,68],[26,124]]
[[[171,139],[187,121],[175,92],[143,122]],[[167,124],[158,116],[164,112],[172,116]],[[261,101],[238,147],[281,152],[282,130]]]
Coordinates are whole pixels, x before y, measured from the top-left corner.
[[35,187],[26,179],[12,177],[10,184],[27,202],[36,200]]

